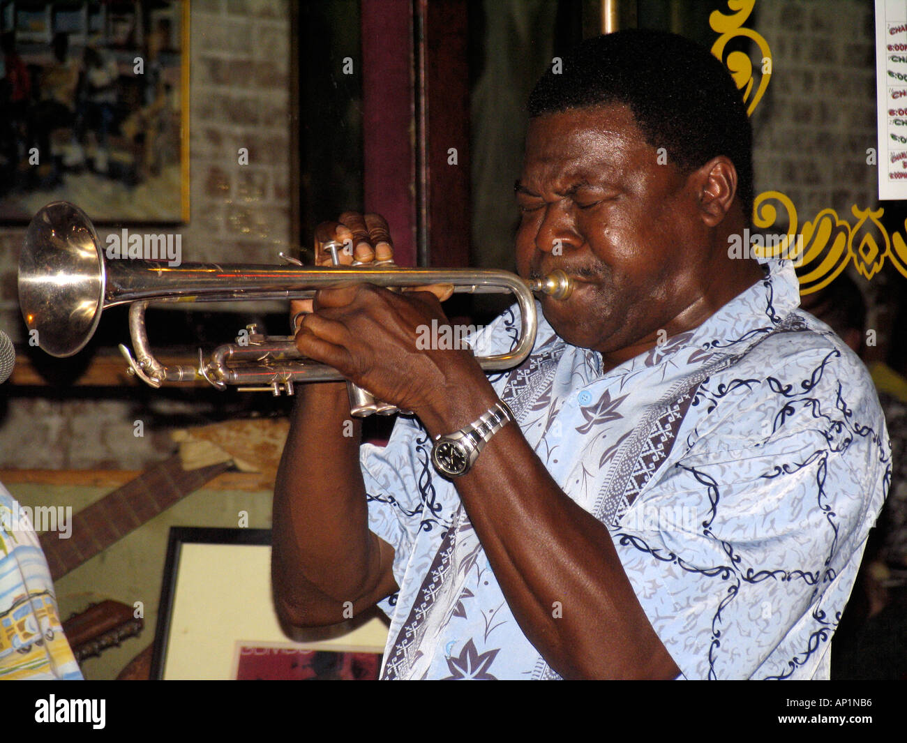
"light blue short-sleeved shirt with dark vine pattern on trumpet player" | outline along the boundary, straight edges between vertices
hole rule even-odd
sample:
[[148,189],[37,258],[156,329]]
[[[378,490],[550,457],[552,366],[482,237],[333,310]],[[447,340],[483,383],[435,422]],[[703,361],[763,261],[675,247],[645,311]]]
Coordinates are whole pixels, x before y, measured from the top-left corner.
[[[794,269],[767,268],[698,328],[609,372],[540,319],[532,355],[492,377],[555,482],[608,525],[680,678],[827,679],[888,491],[869,374],[797,310]],[[477,353],[512,347],[514,311]],[[362,449],[370,527],[394,545],[400,586],[381,603],[383,678],[557,678],[431,448],[402,418],[385,448]]]

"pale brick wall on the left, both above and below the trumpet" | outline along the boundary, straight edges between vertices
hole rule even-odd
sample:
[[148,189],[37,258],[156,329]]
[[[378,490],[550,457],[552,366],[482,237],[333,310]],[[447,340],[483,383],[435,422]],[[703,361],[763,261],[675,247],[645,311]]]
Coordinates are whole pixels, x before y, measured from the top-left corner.
[[[289,10],[289,0],[192,0],[184,261],[277,263],[290,240]],[[241,147],[247,165],[239,164]],[[0,328],[16,341],[24,340],[16,291],[23,235],[0,229]],[[168,415],[152,414],[144,393],[10,396],[9,386],[0,393],[0,466],[137,469],[173,448]],[[167,405],[171,420],[186,422],[190,403]],[[157,423],[132,435],[133,422],[151,415]]]

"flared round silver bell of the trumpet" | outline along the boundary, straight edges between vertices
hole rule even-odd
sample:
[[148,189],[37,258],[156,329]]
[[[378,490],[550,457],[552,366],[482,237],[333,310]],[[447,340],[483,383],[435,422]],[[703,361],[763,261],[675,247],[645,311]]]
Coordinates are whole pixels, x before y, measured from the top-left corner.
[[28,226],[19,254],[19,306],[25,325],[51,356],[78,353],[101,320],[104,262],[83,210],[54,201]]

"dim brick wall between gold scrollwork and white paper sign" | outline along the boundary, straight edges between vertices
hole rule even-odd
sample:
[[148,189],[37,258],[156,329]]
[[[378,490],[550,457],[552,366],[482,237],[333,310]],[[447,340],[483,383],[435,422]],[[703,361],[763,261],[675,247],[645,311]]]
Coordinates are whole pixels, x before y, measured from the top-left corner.
[[773,77],[753,113],[756,192],[782,191],[811,220],[832,207],[873,207],[877,172],[873,4],[758,0],[755,28],[772,50]]

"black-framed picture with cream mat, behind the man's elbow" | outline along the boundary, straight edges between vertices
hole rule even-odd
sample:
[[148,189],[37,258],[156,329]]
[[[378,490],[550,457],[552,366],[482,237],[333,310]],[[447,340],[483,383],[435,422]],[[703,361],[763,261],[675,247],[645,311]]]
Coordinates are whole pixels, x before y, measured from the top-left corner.
[[377,679],[378,612],[289,638],[271,599],[270,531],[171,528],[152,679]]

